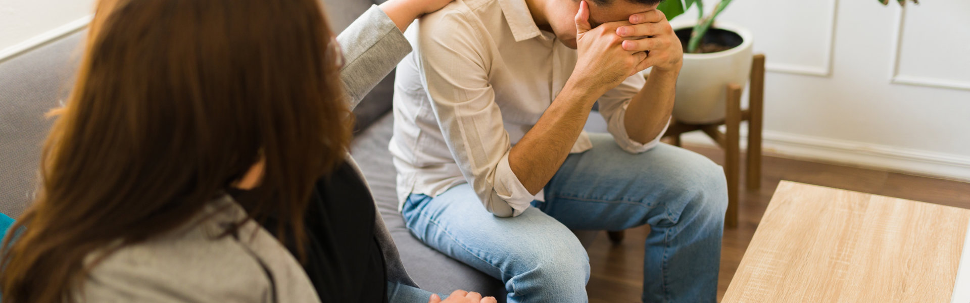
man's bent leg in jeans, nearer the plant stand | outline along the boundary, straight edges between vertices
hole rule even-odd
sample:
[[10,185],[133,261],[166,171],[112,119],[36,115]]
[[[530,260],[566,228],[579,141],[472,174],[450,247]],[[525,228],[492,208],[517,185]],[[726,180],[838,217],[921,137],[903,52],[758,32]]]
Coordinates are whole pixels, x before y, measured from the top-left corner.
[[539,208],[574,229],[622,230],[650,224],[644,302],[715,302],[727,210],[723,169],[684,149],[639,154],[608,134],[570,154],[546,185]]

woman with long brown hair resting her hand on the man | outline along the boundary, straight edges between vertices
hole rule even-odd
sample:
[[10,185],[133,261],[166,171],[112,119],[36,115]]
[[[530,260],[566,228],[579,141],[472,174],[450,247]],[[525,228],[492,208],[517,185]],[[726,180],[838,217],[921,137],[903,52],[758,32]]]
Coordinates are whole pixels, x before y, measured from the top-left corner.
[[391,0],[335,39],[317,0],[101,0],[3,301],[440,301],[346,149],[404,27],[448,2]]

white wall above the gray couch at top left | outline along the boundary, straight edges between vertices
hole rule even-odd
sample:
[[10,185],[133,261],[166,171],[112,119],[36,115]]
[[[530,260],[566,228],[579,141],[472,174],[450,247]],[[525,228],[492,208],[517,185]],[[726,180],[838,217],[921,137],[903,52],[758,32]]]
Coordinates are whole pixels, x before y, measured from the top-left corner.
[[86,24],[94,0],[0,0],[0,61]]

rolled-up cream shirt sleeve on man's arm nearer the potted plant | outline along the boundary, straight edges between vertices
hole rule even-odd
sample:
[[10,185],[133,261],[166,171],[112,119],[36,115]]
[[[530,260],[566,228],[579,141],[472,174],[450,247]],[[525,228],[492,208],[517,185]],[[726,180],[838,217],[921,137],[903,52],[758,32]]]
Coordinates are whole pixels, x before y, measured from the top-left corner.
[[616,88],[610,89],[598,99],[599,114],[606,120],[606,130],[613,135],[613,139],[621,149],[630,153],[647,152],[656,147],[660,144],[663,133],[670,126],[670,121],[667,120],[666,125],[663,126],[663,131],[650,142],[640,143],[630,139],[626,126],[627,107],[630,106],[633,96],[643,88],[644,84],[646,84],[646,79],[638,73],[627,78]]

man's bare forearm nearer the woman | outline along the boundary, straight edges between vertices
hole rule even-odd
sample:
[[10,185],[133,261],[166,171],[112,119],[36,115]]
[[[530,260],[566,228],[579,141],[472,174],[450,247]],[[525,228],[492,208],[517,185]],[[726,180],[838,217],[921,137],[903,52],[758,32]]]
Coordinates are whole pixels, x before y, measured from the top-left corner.
[[563,165],[601,94],[566,83],[533,128],[512,147],[508,166],[530,193],[541,190]]

